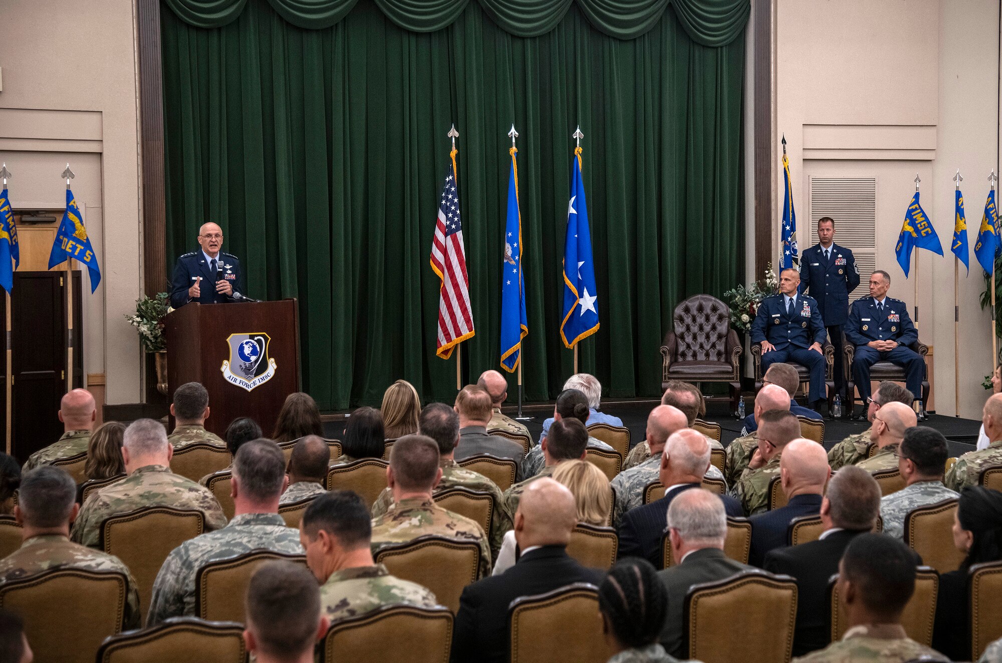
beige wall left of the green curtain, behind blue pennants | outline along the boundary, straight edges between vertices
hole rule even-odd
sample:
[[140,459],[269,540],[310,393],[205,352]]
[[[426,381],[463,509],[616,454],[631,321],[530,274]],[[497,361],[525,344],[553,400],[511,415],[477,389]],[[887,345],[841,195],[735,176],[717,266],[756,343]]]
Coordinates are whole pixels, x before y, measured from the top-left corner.
[[93,294],[84,287],[84,372],[105,375],[107,403],[137,403],[140,353],[123,317],[141,291],[132,1],[4,0],[2,17],[0,161],[14,174],[11,203],[63,208],[59,174],[70,162],[102,274]]

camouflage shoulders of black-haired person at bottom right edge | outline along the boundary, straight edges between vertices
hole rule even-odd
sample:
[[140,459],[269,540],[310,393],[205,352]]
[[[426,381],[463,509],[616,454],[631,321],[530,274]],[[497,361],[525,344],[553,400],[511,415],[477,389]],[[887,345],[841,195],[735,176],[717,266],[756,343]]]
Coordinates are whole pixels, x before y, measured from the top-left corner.
[[950,659],[935,649],[915,642],[900,624],[854,626],[842,640],[820,651],[795,658],[794,663],[906,663]]

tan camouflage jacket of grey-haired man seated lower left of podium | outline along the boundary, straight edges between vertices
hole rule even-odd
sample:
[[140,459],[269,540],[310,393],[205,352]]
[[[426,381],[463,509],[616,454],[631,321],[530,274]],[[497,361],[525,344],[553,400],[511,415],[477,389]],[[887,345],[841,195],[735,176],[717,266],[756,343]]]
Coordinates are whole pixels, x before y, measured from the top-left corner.
[[100,545],[101,523],[105,518],[143,507],[200,511],[205,516],[206,531],[217,530],[226,524],[222,508],[205,487],[173,474],[168,467],[147,465],[87,498],[73,523],[72,539],[96,548]]

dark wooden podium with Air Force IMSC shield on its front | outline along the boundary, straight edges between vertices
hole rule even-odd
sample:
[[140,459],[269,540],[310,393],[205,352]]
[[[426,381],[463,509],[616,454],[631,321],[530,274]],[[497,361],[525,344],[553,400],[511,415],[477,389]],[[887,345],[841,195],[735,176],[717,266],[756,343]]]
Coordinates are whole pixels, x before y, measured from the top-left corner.
[[223,436],[237,417],[272,435],[286,397],[300,391],[296,299],[189,303],[164,317],[170,395],[185,383],[208,390],[205,428]]

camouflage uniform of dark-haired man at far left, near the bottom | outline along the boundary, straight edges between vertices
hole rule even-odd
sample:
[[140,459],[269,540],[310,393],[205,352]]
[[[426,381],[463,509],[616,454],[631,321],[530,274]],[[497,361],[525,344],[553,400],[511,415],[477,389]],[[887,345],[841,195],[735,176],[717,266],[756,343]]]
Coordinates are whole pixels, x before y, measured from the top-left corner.
[[0,560],[0,585],[19,578],[34,576],[50,569],[85,569],[87,571],[120,571],[127,579],[125,595],[125,630],[141,626],[139,593],[135,578],[121,560],[75,543],[61,534],[43,534],[21,544]]

